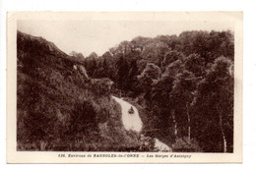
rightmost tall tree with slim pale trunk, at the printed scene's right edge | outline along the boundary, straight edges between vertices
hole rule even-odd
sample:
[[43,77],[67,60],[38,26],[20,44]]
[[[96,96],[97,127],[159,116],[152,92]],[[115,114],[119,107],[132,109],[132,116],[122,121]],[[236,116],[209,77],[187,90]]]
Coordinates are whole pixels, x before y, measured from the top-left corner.
[[[198,134],[206,151],[231,152],[233,144],[232,61],[217,58],[198,85],[195,104]],[[208,135],[205,135],[208,133]]]

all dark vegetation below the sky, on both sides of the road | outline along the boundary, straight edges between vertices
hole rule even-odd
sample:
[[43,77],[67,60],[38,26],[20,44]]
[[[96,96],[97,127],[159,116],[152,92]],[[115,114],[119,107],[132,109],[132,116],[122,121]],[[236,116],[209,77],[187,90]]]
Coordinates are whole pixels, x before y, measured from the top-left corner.
[[[233,151],[232,32],[139,36],[85,59],[17,38],[18,149],[152,151],[158,138],[174,151]],[[140,107],[147,141],[123,129],[110,94]]]

